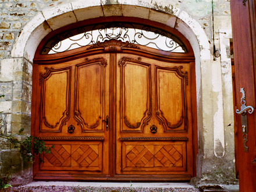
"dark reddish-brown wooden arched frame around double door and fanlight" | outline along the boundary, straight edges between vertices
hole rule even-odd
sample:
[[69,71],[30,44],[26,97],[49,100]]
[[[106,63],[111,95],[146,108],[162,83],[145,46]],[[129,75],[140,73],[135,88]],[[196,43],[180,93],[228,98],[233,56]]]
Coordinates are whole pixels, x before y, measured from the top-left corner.
[[[63,27],[61,29],[52,31],[52,33],[49,33],[44,40],[42,40],[42,42],[40,43],[40,45],[38,45],[37,51],[35,52],[35,57],[34,57],[34,66],[33,66],[33,71],[36,70],[36,67],[38,64],[50,64],[50,63],[58,63],[58,62],[62,62],[62,61],[69,61],[72,60],[74,58],[81,58],[83,56],[86,55],[94,55],[94,54],[101,54],[101,53],[106,53],[106,52],[111,52],[111,50],[109,49],[108,46],[101,48],[101,49],[91,49],[91,50],[87,50],[87,47],[82,47],[82,48],[77,48],[77,49],[73,49],[71,51],[66,51],[60,54],[53,54],[53,55],[40,55],[41,49],[44,46],[45,42],[47,42],[49,40],[49,38],[54,37],[54,35],[59,34],[63,31],[66,31],[67,29],[72,29],[72,28],[76,28],[79,26],[83,26],[85,24],[96,24],[96,23],[102,23],[102,22],[125,22],[125,21],[129,21],[131,18],[129,17],[104,17],[104,18],[100,18],[100,19],[90,19],[90,20],[86,20],[84,22],[79,22],[79,23],[75,23],[75,24],[71,24],[70,26],[67,27]],[[134,18],[133,18],[134,20]],[[145,23],[148,20],[145,19],[140,19],[138,18],[136,20],[137,23]],[[138,45],[138,47],[140,48],[140,51],[138,50],[133,50],[132,48],[122,48],[122,49],[118,49],[120,52],[123,53],[127,53],[127,54],[136,54],[138,56],[147,56],[147,57],[151,57],[151,58],[158,58],[161,59],[158,55],[161,55],[161,57],[163,58],[162,60],[166,60],[166,61],[175,61],[175,62],[191,62],[194,63],[194,53],[193,53],[193,49],[191,48],[191,45],[189,43],[189,41],[177,30],[169,27],[169,26],[165,26],[161,23],[157,23],[157,22],[150,22],[148,25],[159,28],[159,29],[163,29],[166,31],[169,31],[170,33],[175,34],[177,37],[180,38],[180,40],[182,40],[182,42],[184,43],[184,45],[187,48],[187,53],[185,54],[179,54],[179,53],[170,53],[169,55],[162,55],[161,51],[154,51],[152,49],[152,52],[148,52],[143,50],[144,48],[141,47],[140,45]],[[193,66],[195,66],[193,64]],[[33,82],[35,82],[35,79],[37,78],[37,74],[33,73]],[[35,93],[35,86],[33,86],[33,93]],[[115,100],[115,98],[111,98],[111,102],[113,102]],[[193,138],[192,138],[192,142],[193,142],[193,176],[196,176],[196,157],[197,157],[197,150],[198,150],[198,143],[197,143],[197,96],[196,96],[196,85],[195,85],[195,67],[191,67],[191,115],[192,115],[192,125],[193,125]],[[35,117],[34,117],[34,105],[36,102],[36,98],[35,95],[32,94],[32,109],[31,109],[31,134],[34,135],[35,132],[33,130],[33,126],[35,123]],[[113,114],[111,115],[113,117]],[[113,122],[113,121],[111,121]],[[113,138],[110,138],[113,139]],[[111,150],[111,149],[110,149]],[[113,151],[112,151],[113,153]],[[114,154],[114,153],[113,153]],[[111,161],[111,160],[109,160]],[[111,165],[111,164],[110,164]],[[112,166],[112,165],[111,165]],[[113,169],[112,169],[113,170]],[[147,178],[147,179],[151,179],[151,178]],[[178,179],[179,180],[179,179]]]

